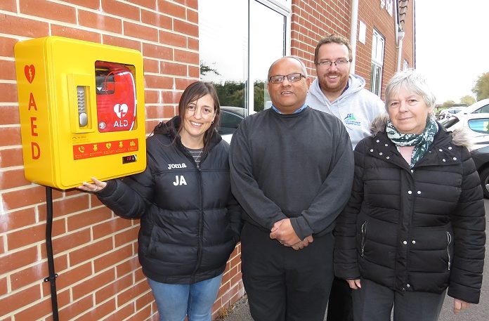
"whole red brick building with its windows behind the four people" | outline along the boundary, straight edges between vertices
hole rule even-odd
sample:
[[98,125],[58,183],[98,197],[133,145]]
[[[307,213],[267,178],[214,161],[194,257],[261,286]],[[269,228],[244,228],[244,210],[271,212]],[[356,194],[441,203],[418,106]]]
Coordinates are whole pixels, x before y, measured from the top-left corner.
[[[414,0],[0,1],[0,320],[52,319],[46,194],[24,177],[15,43],[56,35],[141,51],[150,133],[197,79],[221,89],[221,105],[269,107],[270,63],[296,55],[315,77],[315,44],[331,33],[352,39],[355,72],[384,98],[394,72],[415,67],[414,17]],[[77,190],[54,190],[53,213],[60,320],[157,320],[137,259],[139,222]],[[244,294],[240,273],[238,245],[214,317]]]

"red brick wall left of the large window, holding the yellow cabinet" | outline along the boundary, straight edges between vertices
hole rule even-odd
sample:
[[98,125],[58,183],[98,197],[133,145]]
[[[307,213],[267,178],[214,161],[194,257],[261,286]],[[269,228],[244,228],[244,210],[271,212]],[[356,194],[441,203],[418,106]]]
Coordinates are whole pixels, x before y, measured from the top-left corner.
[[[2,0],[0,10],[0,320],[52,320],[45,188],[23,176],[13,46],[57,35],[141,51],[149,133],[200,76],[197,0]],[[137,259],[139,221],[77,190],[54,190],[53,207],[60,320],[157,320]],[[214,316],[242,296],[240,277],[237,247]]]

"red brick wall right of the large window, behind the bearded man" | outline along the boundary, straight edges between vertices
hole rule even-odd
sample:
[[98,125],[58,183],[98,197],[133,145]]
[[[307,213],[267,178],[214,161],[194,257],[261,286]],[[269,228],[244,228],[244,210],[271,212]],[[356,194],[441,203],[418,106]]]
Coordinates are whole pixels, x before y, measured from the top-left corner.
[[[372,30],[375,28],[385,37],[384,68],[382,70],[382,98],[387,81],[396,72],[396,13],[393,15],[380,7],[379,0],[359,0],[358,20],[366,25],[365,44],[356,41],[356,74],[365,78],[370,89],[370,66],[372,61]],[[414,0],[409,2],[408,20],[405,24],[403,57],[413,67],[412,10]],[[393,0],[395,4],[396,1]],[[350,39],[349,0],[292,0],[291,54],[304,58],[308,72],[315,77],[314,48],[328,34],[336,33]],[[358,25],[357,25],[358,29]],[[401,60],[401,68],[402,68]]]

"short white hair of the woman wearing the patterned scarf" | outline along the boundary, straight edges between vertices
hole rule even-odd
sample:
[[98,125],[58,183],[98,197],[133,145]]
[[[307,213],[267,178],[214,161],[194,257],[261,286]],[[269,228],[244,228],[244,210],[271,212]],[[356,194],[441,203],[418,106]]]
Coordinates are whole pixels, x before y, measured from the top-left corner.
[[400,87],[412,91],[421,96],[429,108],[434,108],[436,97],[428,86],[426,77],[414,69],[396,72],[386,86],[386,110],[389,111],[389,99],[393,94],[398,93]]

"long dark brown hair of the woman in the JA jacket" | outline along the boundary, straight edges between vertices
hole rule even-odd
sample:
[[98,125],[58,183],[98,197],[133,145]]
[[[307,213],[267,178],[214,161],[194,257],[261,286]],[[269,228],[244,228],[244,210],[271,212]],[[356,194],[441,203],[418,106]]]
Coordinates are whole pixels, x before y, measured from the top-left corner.
[[[221,105],[219,105],[219,97],[217,96],[216,89],[214,89],[214,86],[208,82],[195,81],[194,83],[188,85],[185,91],[183,91],[180,102],[178,103],[178,114],[180,114],[180,117],[183,117],[190,103],[206,96],[207,94],[211,95],[212,99],[214,99],[214,112],[216,113],[216,117],[214,117],[214,122],[211,123],[209,129],[207,129],[207,131],[204,133],[204,150],[207,150],[207,143],[209,143],[214,135],[216,127],[219,126]],[[183,119],[181,124],[182,125],[180,126],[180,129],[178,129],[178,133],[180,133],[183,129]]]

